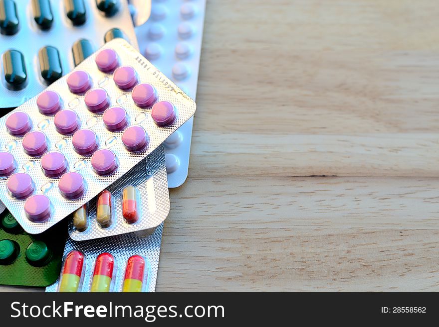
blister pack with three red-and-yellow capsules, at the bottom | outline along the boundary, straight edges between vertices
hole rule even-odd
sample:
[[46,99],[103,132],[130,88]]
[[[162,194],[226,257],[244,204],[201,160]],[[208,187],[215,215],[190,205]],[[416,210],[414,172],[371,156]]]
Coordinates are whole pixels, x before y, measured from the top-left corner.
[[154,292],[162,230],[163,223],[148,237],[68,238],[60,278],[46,292]]

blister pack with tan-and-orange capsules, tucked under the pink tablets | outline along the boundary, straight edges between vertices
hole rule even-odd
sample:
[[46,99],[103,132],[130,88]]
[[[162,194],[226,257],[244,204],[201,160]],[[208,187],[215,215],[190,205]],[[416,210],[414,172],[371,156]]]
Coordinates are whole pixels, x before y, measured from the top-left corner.
[[163,145],[74,211],[69,234],[87,240],[151,229],[169,214],[169,192]]

